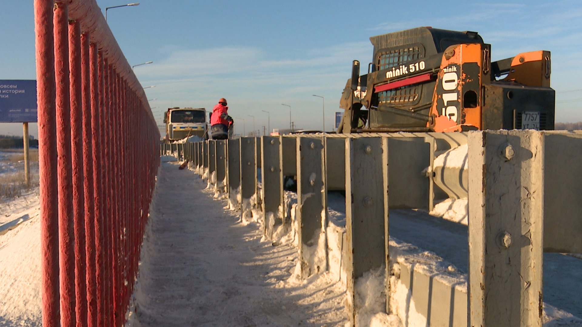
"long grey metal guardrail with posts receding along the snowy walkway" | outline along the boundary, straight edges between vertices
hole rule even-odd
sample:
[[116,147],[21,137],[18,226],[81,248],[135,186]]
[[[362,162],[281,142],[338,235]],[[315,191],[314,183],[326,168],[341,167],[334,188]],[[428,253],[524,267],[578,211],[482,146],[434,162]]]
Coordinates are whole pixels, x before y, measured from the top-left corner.
[[[227,192],[231,205],[242,208],[243,215],[245,203],[259,196],[260,201],[254,203],[262,209],[267,238],[292,223],[285,214],[289,208],[284,208],[283,180],[296,177],[293,225],[299,234],[304,278],[329,269],[332,252],[337,250],[327,245],[335,236],[327,229],[326,197],[328,186],[343,174],[346,225],[339,236],[343,240],[339,250],[345,258],[342,270],[349,317],[357,322],[360,308],[355,305],[354,285],[374,269],[384,269],[386,298],[382,305],[386,312],[395,313],[389,305],[389,277],[394,272],[389,266],[388,208],[424,205],[418,196],[407,201],[400,197],[399,193],[408,194],[409,187],[391,175],[421,175],[422,169],[414,161],[434,151],[423,143],[436,144],[446,138],[469,148],[468,290],[447,283],[446,278],[415,271],[414,265],[401,265],[398,277],[428,325],[541,326],[542,254],[582,252],[582,176],[577,173],[582,165],[580,133],[315,134],[242,137],[173,147],[215,191]],[[174,148],[166,144],[161,153]],[[257,192],[258,166],[262,166],[261,192]],[[457,179],[461,178],[463,172],[455,171]],[[430,174],[421,177],[427,179]],[[390,183],[392,180],[396,182]],[[413,178],[418,187],[415,183]],[[416,192],[428,191],[425,186],[426,190]],[[321,253],[325,257],[317,257]]]

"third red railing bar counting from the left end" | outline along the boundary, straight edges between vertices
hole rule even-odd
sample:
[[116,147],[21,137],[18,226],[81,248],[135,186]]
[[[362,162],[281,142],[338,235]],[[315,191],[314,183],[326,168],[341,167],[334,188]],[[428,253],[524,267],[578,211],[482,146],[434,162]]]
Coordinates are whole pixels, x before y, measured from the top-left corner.
[[87,325],[83,172],[83,86],[81,85],[81,26],[73,20],[69,22],[69,71],[71,156],[73,167],[75,320],[76,325],[82,327]]

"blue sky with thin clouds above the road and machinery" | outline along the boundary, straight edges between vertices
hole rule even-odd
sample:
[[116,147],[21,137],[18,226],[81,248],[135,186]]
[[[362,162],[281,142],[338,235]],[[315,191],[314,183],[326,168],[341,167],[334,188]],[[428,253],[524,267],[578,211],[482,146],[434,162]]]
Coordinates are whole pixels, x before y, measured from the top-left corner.
[[[138,0],[139,1],[139,0]],[[118,0],[99,0],[105,7]],[[0,0],[0,79],[35,79],[33,1]],[[205,107],[218,99],[242,131],[330,130],[351,63],[371,61],[369,37],[418,26],[478,31],[492,59],[552,52],[556,122],[582,121],[582,2],[153,1],[108,10],[108,23],[135,68],[161,124],[170,106]],[[249,116],[251,115],[251,116]],[[33,124],[34,125],[34,124]],[[36,135],[36,126],[31,134]],[[0,134],[22,134],[0,124]]]

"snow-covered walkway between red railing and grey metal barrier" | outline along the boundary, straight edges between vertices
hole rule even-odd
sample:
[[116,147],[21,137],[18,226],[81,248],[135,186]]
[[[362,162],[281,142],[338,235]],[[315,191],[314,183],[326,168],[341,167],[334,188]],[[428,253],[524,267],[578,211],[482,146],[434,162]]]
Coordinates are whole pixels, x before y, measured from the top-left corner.
[[162,163],[130,326],[345,325],[339,283],[295,279],[296,248],[261,241],[204,187]]

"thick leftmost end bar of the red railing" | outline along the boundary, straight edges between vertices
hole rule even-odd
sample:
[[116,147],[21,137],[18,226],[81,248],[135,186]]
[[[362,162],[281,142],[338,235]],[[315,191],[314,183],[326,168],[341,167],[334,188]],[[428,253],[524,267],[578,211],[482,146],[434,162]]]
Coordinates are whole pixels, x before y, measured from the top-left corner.
[[58,179],[56,173],[56,85],[52,1],[34,0],[34,33],[37,58],[38,168],[40,182],[42,251],[42,325],[58,326],[59,239]]

